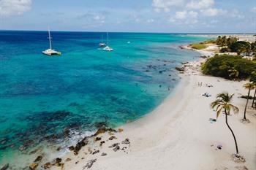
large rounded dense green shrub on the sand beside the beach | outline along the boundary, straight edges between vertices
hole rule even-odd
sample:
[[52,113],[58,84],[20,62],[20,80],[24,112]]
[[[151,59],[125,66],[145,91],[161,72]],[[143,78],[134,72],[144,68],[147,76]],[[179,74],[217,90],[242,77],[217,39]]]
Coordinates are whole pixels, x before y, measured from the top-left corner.
[[202,66],[203,74],[224,77],[229,80],[247,79],[256,72],[256,62],[235,55],[215,55]]

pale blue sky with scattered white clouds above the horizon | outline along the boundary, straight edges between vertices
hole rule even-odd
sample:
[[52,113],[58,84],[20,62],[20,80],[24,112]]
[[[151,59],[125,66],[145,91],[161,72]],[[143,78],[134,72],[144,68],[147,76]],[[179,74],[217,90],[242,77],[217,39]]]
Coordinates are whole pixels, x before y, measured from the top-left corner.
[[254,0],[0,0],[1,30],[255,33]]

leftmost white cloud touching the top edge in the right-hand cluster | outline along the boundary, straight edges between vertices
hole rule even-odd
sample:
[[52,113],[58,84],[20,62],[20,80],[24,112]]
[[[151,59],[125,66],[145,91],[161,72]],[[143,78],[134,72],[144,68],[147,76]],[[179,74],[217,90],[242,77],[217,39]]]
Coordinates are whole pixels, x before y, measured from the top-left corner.
[[171,7],[178,7],[184,4],[184,0],[153,0],[152,6],[157,12],[169,12]]

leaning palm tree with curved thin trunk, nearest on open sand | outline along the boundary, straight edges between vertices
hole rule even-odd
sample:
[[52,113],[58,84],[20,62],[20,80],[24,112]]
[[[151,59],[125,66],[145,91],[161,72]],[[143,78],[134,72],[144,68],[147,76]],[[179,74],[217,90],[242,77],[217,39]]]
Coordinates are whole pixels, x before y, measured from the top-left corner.
[[234,96],[234,94],[229,95],[228,93],[219,93],[217,95],[217,100],[213,101],[211,103],[211,108],[214,109],[216,107],[217,118],[219,117],[219,114],[221,112],[225,113],[226,125],[227,125],[227,128],[230,129],[230,131],[233,135],[233,138],[234,138],[234,141],[236,144],[236,154],[238,154],[238,145],[236,142],[236,136],[235,136],[233,130],[230,128],[230,125],[227,122],[227,115],[230,115],[231,109],[233,109],[234,113],[237,113],[239,111],[238,107],[234,106],[233,104],[230,104],[233,96]]

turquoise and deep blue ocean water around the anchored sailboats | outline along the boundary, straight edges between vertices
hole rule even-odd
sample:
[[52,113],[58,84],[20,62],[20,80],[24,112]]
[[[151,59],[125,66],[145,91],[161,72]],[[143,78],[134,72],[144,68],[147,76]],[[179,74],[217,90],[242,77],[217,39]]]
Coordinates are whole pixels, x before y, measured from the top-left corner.
[[[31,148],[72,140],[63,135],[116,127],[151,112],[179,82],[176,66],[198,53],[178,45],[186,34],[0,31],[0,165],[17,164]],[[130,42],[130,43],[128,43]],[[28,157],[28,161],[32,158]]]

